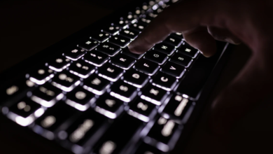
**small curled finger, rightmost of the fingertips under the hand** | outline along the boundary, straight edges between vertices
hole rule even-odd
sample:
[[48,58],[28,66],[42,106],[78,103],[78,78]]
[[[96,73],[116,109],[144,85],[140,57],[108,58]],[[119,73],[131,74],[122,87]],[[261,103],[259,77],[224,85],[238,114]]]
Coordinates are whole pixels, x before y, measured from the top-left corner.
[[241,40],[233,35],[228,29],[221,29],[218,27],[208,27],[209,34],[218,41],[225,41],[232,44],[239,44]]

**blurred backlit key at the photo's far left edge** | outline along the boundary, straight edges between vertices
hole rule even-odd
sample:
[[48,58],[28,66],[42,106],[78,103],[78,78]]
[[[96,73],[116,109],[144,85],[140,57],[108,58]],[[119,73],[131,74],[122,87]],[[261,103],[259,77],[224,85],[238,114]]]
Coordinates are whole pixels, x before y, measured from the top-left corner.
[[0,91],[1,100],[0,102],[5,102],[8,100],[9,102],[16,101],[17,99],[20,99],[20,95],[22,95],[23,92],[27,92],[28,90],[33,89],[35,86],[35,83],[31,80],[27,80],[25,78],[18,79],[15,81],[15,83],[11,85],[7,85],[6,87],[3,87]]

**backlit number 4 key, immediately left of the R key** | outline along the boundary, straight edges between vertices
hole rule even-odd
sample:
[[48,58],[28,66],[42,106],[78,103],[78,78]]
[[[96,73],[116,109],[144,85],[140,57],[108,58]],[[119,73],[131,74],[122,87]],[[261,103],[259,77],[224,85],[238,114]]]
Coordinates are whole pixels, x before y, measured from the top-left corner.
[[102,52],[98,52],[96,50],[92,50],[88,52],[83,59],[85,62],[89,62],[90,64],[94,64],[94,66],[102,66],[109,59],[108,55],[105,55]]

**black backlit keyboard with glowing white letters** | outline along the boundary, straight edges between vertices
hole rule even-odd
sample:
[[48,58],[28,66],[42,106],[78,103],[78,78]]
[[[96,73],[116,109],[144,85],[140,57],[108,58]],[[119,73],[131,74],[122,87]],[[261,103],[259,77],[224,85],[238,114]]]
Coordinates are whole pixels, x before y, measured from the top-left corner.
[[205,58],[174,33],[130,52],[174,2],[135,2],[6,72],[17,75],[1,85],[1,113],[72,153],[172,153],[228,45]]

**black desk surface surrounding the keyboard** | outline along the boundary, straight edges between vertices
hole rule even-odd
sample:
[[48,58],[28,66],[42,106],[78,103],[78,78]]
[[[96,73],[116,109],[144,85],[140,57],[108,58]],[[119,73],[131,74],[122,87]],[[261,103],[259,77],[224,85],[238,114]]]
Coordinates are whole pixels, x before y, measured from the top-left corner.
[[[125,0],[0,1],[0,71],[111,13],[120,2]],[[232,51],[211,100],[234,78],[249,55],[244,45]],[[270,102],[272,99],[261,99],[239,121],[228,139],[219,139],[207,131],[208,105],[184,154],[273,153],[273,104]]]

